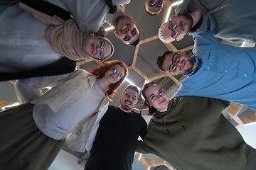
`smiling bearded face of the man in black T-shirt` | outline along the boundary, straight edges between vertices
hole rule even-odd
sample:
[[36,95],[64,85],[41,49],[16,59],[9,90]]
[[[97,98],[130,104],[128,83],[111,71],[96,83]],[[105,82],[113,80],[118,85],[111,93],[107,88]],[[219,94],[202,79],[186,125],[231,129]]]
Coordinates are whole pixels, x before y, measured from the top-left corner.
[[130,112],[137,104],[138,93],[134,89],[126,89],[120,96],[120,106],[122,111]]

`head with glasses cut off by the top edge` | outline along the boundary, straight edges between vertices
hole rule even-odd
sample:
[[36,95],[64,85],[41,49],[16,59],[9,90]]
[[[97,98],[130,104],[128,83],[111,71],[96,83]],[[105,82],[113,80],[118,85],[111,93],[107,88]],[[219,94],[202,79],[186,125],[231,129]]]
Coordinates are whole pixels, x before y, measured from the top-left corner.
[[145,10],[150,16],[156,16],[161,12],[166,0],[145,0]]

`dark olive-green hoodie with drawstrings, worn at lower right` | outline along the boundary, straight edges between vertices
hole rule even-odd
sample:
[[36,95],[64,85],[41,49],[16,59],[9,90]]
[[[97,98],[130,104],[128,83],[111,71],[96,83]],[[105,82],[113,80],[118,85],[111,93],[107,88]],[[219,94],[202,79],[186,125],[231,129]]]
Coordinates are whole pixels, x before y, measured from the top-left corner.
[[172,98],[167,112],[151,118],[137,152],[155,154],[178,170],[255,169],[255,149],[222,114],[228,105],[213,98]]

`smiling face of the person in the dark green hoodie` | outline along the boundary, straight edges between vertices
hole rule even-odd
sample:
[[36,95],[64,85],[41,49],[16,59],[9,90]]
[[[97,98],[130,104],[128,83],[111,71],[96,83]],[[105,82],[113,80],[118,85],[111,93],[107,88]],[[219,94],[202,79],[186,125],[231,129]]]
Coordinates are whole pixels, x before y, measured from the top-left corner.
[[[163,89],[161,89],[159,85],[153,84],[146,89],[145,96],[150,107],[153,106],[157,111],[164,112],[167,111],[169,98],[167,94],[160,96],[159,93],[161,93],[161,91],[163,91]],[[154,101],[151,101],[152,96],[156,96]]]

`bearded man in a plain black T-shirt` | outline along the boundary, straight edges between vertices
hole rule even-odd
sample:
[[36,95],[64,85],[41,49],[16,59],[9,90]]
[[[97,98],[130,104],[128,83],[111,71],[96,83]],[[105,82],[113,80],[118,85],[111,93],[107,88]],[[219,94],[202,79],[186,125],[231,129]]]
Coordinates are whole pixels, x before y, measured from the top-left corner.
[[120,96],[120,106],[109,106],[100,120],[85,170],[132,170],[138,137],[144,137],[146,122],[132,112],[139,97],[136,86],[127,86]]

